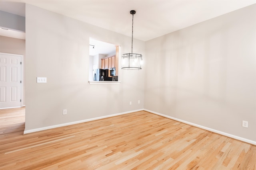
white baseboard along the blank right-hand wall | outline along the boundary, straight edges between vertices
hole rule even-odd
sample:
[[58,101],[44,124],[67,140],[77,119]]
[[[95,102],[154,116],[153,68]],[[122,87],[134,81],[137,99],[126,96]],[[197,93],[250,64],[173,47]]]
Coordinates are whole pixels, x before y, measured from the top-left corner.
[[171,116],[168,116],[168,115],[163,115],[161,113],[157,113],[155,111],[151,111],[151,110],[148,110],[148,109],[144,109],[145,111],[148,111],[150,113],[154,113],[156,115],[160,115],[162,117],[166,117],[166,118],[169,118],[169,119],[172,119],[172,120],[176,120],[176,121],[179,121],[179,122],[182,122],[182,123],[186,123],[188,125],[192,125],[194,127],[199,127],[201,129],[204,129],[206,131],[211,131],[211,132],[214,132],[214,133],[218,133],[220,135],[224,135],[226,137],[230,137],[230,138],[233,138],[233,139],[237,139],[239,141],[243,141],[243,142],[246,142],[246,143],[250,143],[252,145],[256,145],[256,141],[252,141],[252,140],[249,140],[249,139],[245,139],[245,138],[242,138],[242,137],[238,137],[238,136],[235,136],[235,135],[231,135],[229,133],[225,133],[225,132],[222,132],[222,131],[217,131],[215,129],[211,129],[211,128],[208,128],[208,127],[204,127],[204,126],[201,126],[201,125],[197,125],[195,123],[191,123],[191,122],[188,122],[188,121],[184,121],[184,120],[181,120],[181,119],[177,119],[177,118],[174,118],[174,117],[171,117]]

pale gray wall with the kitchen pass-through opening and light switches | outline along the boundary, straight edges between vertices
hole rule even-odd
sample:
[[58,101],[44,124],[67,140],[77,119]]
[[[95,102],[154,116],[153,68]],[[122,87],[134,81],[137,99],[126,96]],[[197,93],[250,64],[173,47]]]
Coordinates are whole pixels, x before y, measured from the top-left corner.
[[88,83],[89,37],[130,50],[130,37],[26,4],[26,131],[144,108],[143,70],[120,69],[120,84]]

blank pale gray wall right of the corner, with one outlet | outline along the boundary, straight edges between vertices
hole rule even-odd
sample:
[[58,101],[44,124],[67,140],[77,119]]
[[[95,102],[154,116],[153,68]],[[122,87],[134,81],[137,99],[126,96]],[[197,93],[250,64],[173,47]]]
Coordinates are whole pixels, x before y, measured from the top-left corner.
[[255,4],[147,41],[146,56],[145,109],[256,141]]

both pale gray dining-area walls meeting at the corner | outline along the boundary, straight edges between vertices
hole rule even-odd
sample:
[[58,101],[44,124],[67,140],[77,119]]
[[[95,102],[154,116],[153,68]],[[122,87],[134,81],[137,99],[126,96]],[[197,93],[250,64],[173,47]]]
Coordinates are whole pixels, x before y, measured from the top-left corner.
[[[25,130],[145,108],[256,141],[255,11],[135,39],[143,69],[120,69],[120,84],[90,85],[89,37],[120,45],[121,53],[130,37],[26,4]],[[37,76],[48,82],[37,84]]]

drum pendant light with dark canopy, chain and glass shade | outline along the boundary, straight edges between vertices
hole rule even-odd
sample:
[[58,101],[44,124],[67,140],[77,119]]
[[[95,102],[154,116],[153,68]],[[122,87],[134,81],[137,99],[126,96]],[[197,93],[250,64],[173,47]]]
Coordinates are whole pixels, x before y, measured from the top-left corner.
[[[132,14],[132,44],[133,44],[133,15],[136,11],[131,10]],[[126,53],[122,55],[122,69],[126,70],[141,70],[142,55],[136,53]]]

